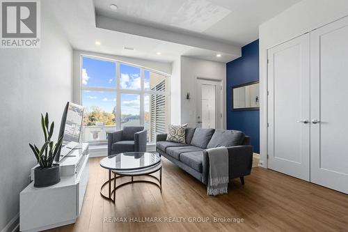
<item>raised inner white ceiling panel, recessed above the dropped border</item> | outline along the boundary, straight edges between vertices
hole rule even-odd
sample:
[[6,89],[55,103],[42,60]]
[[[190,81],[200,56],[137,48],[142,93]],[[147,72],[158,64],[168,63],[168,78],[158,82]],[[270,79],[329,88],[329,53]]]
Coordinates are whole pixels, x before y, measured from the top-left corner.
[[[94,0],[96,13],[171,27],[243,46],[258,39],[258,26],[301,0]],[[110,3],[118,6],[111,10]]]

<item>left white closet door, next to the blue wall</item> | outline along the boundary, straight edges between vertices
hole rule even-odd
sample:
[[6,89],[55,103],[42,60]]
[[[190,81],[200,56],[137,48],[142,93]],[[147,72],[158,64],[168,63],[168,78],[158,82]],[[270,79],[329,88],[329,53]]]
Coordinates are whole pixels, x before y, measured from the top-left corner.
[[268,51],[269,169],[310,179],[309,34]]

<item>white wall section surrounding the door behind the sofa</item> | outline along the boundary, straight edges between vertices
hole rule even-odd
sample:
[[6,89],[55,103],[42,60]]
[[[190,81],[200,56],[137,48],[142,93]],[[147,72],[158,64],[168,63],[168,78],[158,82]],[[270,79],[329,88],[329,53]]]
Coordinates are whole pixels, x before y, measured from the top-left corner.
[[[223,85],[223,128],[226,128],[226,63],[181,56],[181,123],[196,127],[197,77],[221,80]],[[218,90],[219,91],[219,90]],[[186,99],[190,93],[190,100]]]

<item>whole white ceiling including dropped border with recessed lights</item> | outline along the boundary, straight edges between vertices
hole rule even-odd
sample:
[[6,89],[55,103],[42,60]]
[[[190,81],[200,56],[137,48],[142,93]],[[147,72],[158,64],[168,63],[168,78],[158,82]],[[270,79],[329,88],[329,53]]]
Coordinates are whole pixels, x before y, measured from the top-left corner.
[[[238,52],[221,49],[216,44],[235,47],[246,45],[258,38],[258,25],[277,15],[299,0],[49,0],[52,14],[61,24],[74,49],[118,56],[129,56],[153,61],[172,62],[179,56],[228,62],[236,59]],[[262,2],[262,3],[260,3]],[[110,9],[116,3],[118,10]],[[142,35],[128,29],[117,31],[96,26],[98,15],[111,18],[117,25],[120,20],[149,29],[166,29],[175,38],[189,35],[189,43],[180,39],[166,40]],[[186,37],[187,38],[187,37]],[[95,45],[95,41],[101,45]],[[200,45],[206,40],[212,46]],[[197,43],[195,43],[197,41]],[[237,45],[237,46],[234,46]],[[132,47],[127,50],[124,47]],[[228,51],[228,52],[226,52]],[[157,55],[161,52],[161,55]],[[221,53],[221,58],[216,54]]]

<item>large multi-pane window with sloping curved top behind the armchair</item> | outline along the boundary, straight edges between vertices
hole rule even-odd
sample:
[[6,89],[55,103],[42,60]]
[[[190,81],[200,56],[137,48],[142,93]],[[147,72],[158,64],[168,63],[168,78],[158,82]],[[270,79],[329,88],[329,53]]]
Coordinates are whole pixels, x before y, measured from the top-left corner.
[[81,105],[85,142],[106,144],[107,134],[144,125],[148,142],[166,132],[168,77],[134,65],[81,56]]

